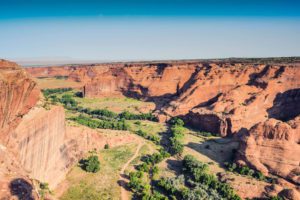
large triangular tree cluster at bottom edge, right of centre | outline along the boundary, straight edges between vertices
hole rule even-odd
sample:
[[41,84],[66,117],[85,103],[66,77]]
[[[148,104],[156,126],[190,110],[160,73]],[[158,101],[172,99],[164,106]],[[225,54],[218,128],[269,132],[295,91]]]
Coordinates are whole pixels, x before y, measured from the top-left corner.
[[191,155],[185,156],[182,163],[187,182],[192,188],[187,194],[183,193],[184,199],[191,199],[190,196],[194,195],[198,196],[198,199],[202,199],[205,195],[214,195],[214,199],[241,199],[228,184],[220,182],[208,172],[207,164],[198,161]]

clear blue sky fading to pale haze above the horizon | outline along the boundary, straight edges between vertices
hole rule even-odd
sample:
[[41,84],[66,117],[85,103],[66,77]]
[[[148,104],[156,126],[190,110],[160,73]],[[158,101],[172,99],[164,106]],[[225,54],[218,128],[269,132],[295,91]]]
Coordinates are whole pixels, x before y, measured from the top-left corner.
[[292,0],[1,0],[0,57],[153,60],[300,56]]

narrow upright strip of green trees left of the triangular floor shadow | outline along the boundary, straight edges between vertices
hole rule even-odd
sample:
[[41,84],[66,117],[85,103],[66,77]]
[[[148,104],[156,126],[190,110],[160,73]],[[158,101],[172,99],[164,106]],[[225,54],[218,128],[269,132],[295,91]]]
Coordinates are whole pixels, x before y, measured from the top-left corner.
[[170,148],[169,152],[172,155],[181,155],[183,152],[184,145],[181,143],[181,139],[184,136],[184,122],[182,119],[173,118],[170,120],[171,123],[171,137],[170,137]]

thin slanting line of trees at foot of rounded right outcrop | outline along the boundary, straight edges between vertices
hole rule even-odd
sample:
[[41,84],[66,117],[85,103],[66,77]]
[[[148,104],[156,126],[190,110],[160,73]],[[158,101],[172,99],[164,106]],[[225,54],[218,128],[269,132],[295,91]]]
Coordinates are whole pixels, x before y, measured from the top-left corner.
[[266,182],[274,182],[275,181],[274,179],[272,179],[270,177],[264,176],[260,171],[253,170],[253,169],[249,168],[248,166],[240,166],[240,165],[237,165],[236,163],[228,163],[228,162],[225,162],[224,165],[227,168],[227,170],[230,172],[236,172],[241,175],[250,176],[250,177],[253,177],[260,181],[266,181]]

